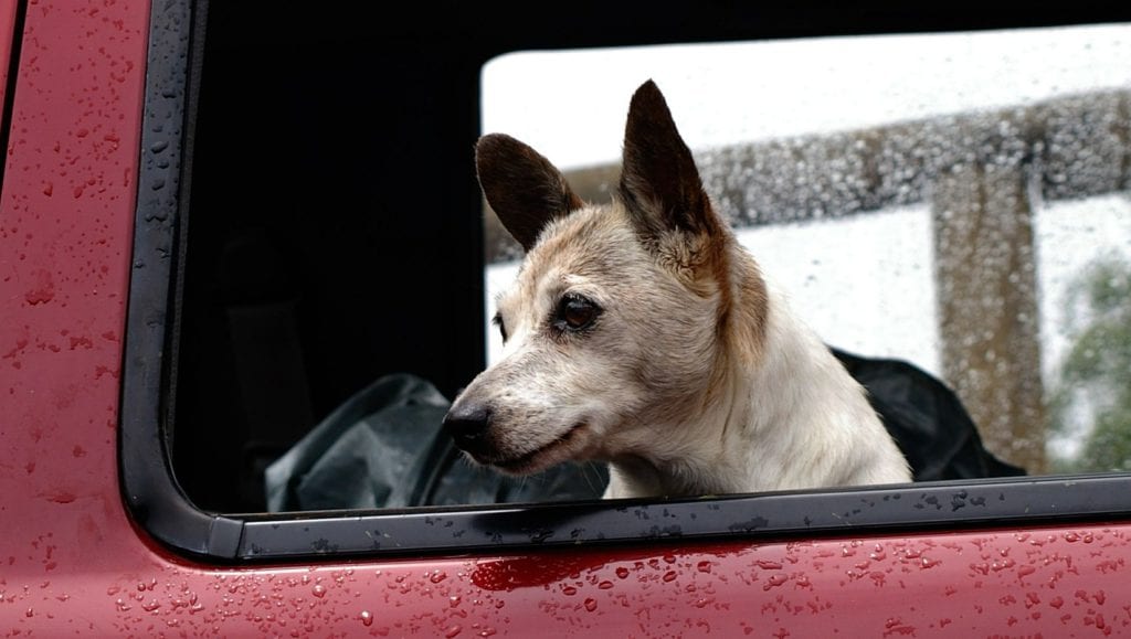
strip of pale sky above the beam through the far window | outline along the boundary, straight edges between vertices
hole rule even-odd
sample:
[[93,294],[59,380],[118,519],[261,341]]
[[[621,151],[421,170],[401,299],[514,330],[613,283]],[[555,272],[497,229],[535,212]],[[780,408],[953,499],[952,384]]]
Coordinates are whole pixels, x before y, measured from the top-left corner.
[[484,67],[483,129],[563,169],[615,161],[649,78],[699,150],[1129,87],[1131,24],[511,53]]

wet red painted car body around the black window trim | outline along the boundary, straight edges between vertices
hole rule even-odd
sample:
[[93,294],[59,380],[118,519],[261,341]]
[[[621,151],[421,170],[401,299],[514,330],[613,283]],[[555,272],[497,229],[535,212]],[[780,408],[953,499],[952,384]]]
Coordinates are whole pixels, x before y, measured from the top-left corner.
[[153,538],[119,458],[149,11],[0,15],[5,52],[23,29],[0,202],[0,636],[1131,633],[1125,516],[242,563]]

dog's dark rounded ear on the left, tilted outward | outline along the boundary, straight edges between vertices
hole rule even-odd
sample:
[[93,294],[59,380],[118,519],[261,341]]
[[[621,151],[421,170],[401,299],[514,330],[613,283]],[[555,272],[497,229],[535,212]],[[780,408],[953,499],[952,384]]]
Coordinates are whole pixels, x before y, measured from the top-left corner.
[[480,138],[475,166],[487,204],[527,251],[546,224],[585,205],[558,167],[510,136]]

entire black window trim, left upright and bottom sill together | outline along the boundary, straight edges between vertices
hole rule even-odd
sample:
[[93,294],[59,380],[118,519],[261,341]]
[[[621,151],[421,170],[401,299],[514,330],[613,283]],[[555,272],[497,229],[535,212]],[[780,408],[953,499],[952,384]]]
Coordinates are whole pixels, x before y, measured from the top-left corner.
[[[185,214],[187,174],[183,171],[188,167],[191,150],[191,130],[185,122],[193,104],[193,74],[199,70],[199,60],[193,59],[193,52],[199,55],[204,28],[201,7],[191,0],[169,0],[155,3],[150,17],[145,129],[122,372],[120,448],[124,498],[140,527],[161,543],[197,556],[248,561],[328,554],[500,552],[661,539],[908,533],[1022,524],[1030,527],[1048,523],[1131,519],[1131,475],[940,482],[679,501],[421,508],[381,512],[308,512],[299,516],[214,515],[197,509],[176,484],[162,424],[169,415],[166,403],[171,399],[167,394],[173,381],[165,368],[165,354],[170,352],[170,334],[175,321],[169,317],[170,310],[175,308],[171,283],[179,275],[174,265],[179,259],[176,240]],[[602,7],[602,10],[606,9]],[[595,11],[577,19],[593,19]],[[832,11],[827,12],[832,16]],[[317,16],[317,12],[312,15]],[[887,17],[895,19],[893,16],[901,14]],[[731,38],[780,37],[801,35],[801,32],[818,35],[813,33],[817,27],[806,25],[802,28],[795,23],[783,23],[782,28],[770,33],[770,26],[751,26],[751,19],[748,16],[746,23],[732,23],[726,34],[716,35]],[[793,19],[796,20],[796,16]],[[597,21],[587,24],[593,27]],[[476,24],[487,23],[476,20]],[[899,17],[896,23],[888,25],[880,20],[877,24],[892,31],[926,28],[909,18]],[[857,27],[860,24],[857,18]],[[368,24],[364,26],[371,27]],[[965,24],[956,26],[973,28]],[[664,25],[640,25],[640,33],[632,34],[633,43],[675,40],[675,32],[665,31],[667,28]],[[710,34],[703,31],[706,27],[700,24],[698,28],[685,40],[707,40]],[[838,28],[841,33],[852,31],[849,27]],[[676,28],[680,33],[688,33],[682,29],[683,26]],[[832,29],[829,26],[827,31]],[[559,28],[554,33],[571,31]],[[542,42],[543,45],[623,43],[616,42],[616,36],[611,33],[606,29],[584,42],[566,42],[562,40],[564,36],[547,32],[538,32],[538,35],[552,40]],[[473,42],[481,43],[478,49],[461,54],[461,60],[451,63],[463,64],[466,72],[477,72],[483,61],[508,46],[534,45],[521,40],[528,36],[512,35],[509,40],[502,36],[473,37]],[[467,79],[469,77],[474,76],[463,79],[472,83]],[[463,87],[466,90],[459,95],[477,94],[472,88]],[[477,106],[472,102],[456,101],[446,105],[477,114]],[[468,122],[468,127],[470,131],[473,124]],[[470,170],[466,180],[466,183],[455,187],[473,192],[475,187]]]

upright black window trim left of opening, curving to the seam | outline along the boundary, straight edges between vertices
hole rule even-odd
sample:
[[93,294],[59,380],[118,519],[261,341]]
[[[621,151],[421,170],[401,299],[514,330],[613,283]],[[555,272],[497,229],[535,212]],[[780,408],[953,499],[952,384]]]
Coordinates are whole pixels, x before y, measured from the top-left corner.
[[149,17],[141,166],[135,216],[133,269],[122,363],[122,490],[149,534],[180,551],[235,556],[242,523],[198,510],[176,484],[164,433],[163,391],[170,378],[167,312],[182,187],[185,107],[193,36],[202,28],[190,0],[155,3]]

